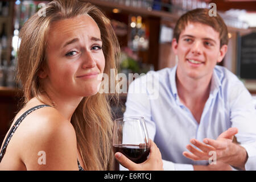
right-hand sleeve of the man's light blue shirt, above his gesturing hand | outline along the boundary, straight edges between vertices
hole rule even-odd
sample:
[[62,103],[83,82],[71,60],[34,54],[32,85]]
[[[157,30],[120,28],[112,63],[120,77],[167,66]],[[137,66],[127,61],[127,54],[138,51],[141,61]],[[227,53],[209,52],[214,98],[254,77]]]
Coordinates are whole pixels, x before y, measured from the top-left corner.
[[256,110],[253,97],[242,82],[233,85],[230,104],[230,121],[238,129],[237,142],[248,155],[245,169],[256,170]]

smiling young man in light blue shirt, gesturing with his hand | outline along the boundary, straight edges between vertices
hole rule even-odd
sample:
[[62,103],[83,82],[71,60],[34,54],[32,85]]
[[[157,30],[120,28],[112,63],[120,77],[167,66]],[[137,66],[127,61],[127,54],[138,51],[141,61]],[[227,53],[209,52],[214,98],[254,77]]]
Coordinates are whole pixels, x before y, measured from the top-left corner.
[[[253,98],[233,73],[216,65],[227,51],[228,31],[220,15],[208,11],[181,16],[172,41],[177,65],[133,81],[124,115],[145,118],[166,170],[256,170]],[[148,83],[155,78],[159,95],[152,99]]]

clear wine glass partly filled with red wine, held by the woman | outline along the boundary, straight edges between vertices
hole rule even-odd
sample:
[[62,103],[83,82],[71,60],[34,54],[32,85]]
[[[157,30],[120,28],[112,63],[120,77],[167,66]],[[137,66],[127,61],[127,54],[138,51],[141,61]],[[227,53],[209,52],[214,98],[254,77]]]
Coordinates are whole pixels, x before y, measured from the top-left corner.
[[147,128],[143,117],[114,120],[113,151],[121,152],[134,163],[143,163],[150,153]]

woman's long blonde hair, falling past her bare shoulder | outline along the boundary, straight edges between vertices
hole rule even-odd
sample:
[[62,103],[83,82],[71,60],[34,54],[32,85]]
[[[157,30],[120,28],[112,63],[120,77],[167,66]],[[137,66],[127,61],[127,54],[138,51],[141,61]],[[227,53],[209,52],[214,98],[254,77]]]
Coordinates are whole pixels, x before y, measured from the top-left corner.
[[[104,73],[110,76],[110,69],[117,74],[119,63],[119,43],[110,21],[90,3],[77,0],[55,0],[31,16],[20,30],[18,67],[16,78],[21,81],[24,92],[24,104],[31,98],[40,100],[44,92],[38,73],[46,64],[47,34],[53,21],[73,18],[78,15],[90,15],[101,32],[102,49],[105,56]],[[71,123],[75,128],[77,148],[82,156],[86,170],[110,169],[112,153],[112,114],[109,97],[105,93],[84,97],[72,115]]]

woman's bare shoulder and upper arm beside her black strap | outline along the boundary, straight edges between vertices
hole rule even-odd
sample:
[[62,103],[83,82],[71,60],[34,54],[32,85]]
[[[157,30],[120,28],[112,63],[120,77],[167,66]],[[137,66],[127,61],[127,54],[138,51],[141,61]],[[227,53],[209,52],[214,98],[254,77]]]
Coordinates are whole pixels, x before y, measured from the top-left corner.
[[[27,169],[77,168],[76,133],[71,122],[59,111],[54,107],[44,107],[28,114],[23,122],[18,134],[22,140],[20,159]],[[38,163],[40,152],[47,155],[48,163],[45,165]]]

